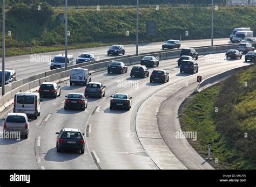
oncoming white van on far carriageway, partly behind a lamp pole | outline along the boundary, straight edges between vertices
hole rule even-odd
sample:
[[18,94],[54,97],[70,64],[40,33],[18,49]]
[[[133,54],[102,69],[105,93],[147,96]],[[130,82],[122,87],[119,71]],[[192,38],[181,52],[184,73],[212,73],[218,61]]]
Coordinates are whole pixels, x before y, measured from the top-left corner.
[[[74,62],[73,55],[68,55],[68,66],[72,66]],[[53,60],[51,60],[51,70],[56,68],[63,68],[65,67],[65,54],[56,55]]]

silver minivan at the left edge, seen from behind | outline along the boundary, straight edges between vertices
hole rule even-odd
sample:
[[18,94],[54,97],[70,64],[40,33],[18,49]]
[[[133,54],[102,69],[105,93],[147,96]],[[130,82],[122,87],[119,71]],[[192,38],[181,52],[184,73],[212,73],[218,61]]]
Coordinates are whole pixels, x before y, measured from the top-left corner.
[[[25,139],[28,138],[29,134],[29,119],[25,113],[8,113],[3,124],[3,133],[18,133],[24,135]],[[10,137],[11,138],[11,137]]]

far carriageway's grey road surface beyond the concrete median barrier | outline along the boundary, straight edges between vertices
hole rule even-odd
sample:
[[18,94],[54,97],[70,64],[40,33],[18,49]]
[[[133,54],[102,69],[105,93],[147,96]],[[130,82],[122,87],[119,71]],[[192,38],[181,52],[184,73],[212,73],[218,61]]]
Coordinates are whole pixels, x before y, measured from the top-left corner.
[[[219,44],[228,44],[229,39],[214,39],[214,45]],[[155,42],[150,44],[140,44],[139,53],[161,51],[161,44],[163,42]],[[181,48],[184,47],[198,47],[198,46],[209,46],[211,45],[210,39],[204,40],[185,40],[181,41]],[[136,46],[134,45],[124,45],[125,55],[132,55],[136,53]],[[86,49],[76,49],[69,50],[68,54],[72,54],[76,60],[78,55],[83,52],[92,53],[99,60],[107,59],[114,56],[107,56],[108,47],[95,47],[95,48],[86,48]],[[6,49],[8,50],[8,49]],[[63,54],[64,51],[58,52],[49,52],[49,53],[40,53],[33,55],[22,55],[22,56],[11,56],[5,58],[5,68],[15,69],[17,73],[17,79],[21,80],[29,76],[33,76],[44,71],[50,70],[50,63],[53,57],[57,54]],[[0,68],[2,68],[2,59],[0,61]]]

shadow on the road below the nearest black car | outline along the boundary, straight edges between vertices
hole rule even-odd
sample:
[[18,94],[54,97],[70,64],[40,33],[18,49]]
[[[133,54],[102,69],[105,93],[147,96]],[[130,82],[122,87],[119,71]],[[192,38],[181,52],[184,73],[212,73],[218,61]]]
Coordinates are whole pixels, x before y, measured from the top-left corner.
[[52,162],[65,162],[69,160],[77,159],[77,157],[82,156],[78,151],[68,151],[65,152],[57,152],[57,148],[51,148],[44,156],[45,161],[52,161]]

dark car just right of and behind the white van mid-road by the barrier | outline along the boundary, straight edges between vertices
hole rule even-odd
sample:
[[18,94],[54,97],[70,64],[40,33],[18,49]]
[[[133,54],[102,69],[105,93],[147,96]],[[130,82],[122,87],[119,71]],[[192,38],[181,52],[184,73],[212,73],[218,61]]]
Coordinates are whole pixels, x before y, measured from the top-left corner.
[[97,96],[102,98],[105,96],[105,86],[100,82],[89,82],[84,89],[84,96]]

